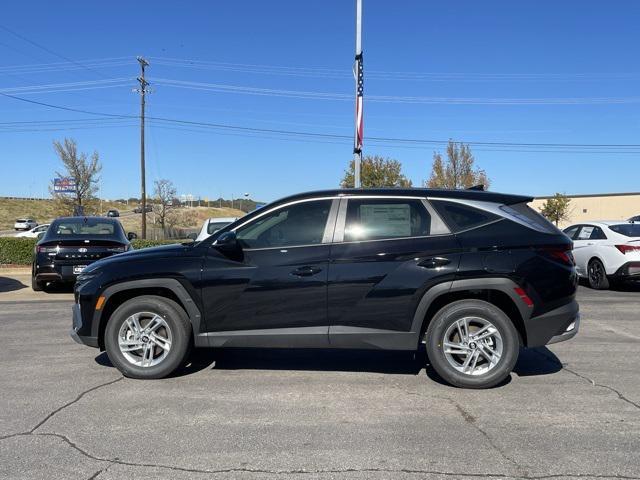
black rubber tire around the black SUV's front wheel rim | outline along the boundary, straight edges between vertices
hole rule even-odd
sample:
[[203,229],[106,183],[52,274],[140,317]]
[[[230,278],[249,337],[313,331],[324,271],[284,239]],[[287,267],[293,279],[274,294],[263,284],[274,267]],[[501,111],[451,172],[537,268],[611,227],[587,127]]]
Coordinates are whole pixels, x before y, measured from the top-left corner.
[[[146,367],[135,365],[125,357],[118,344],[118,335],[123,323],[131,315],[140,312],[161,316],[171,332],[169,352],[157,365]],[[113,312],[104,333],[104,343],[109,360],[125,377],[141,380],[164,378],[182,366],[189,354],[191,322],[185,311],[173,300],[152,295],[135,297],[124,302]],[[159,349],[159,347],[156,348]],[[162,353],[161,350],[160,353]]]

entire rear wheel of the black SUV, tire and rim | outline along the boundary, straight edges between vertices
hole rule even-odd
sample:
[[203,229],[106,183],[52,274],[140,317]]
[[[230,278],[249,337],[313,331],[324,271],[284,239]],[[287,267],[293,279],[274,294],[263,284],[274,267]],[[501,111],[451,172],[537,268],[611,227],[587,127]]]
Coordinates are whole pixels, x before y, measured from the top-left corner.
[[426,333],[427,355],[451,385],[489,388],[511,373],[520,342],[507,315],[482,300],[459,300],[440,309]]

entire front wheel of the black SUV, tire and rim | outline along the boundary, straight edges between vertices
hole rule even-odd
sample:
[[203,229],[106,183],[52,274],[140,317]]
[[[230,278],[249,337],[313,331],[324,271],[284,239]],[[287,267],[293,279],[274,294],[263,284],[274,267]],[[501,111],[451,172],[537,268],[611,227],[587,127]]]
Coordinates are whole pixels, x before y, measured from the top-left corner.
[[104,340],[109,360],[124,376],[163,378],[187,357],[191,323],[174,301],[140,296],[113,312]]

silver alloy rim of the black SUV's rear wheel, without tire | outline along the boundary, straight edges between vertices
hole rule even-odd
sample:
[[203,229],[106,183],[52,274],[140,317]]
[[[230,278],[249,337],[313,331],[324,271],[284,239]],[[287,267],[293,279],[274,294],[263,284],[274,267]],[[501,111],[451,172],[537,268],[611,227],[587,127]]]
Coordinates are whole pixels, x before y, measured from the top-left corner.
[[500,362],[502,336],[488,320],[463,317],[445,331],[442,348],[449,364],[466,375],[484,375]]

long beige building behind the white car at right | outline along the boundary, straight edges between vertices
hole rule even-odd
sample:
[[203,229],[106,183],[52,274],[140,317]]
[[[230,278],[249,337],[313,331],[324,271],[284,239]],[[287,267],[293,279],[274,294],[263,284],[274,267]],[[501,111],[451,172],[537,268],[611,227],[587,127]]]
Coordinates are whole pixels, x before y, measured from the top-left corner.
[[[567,197],[571,199],[569,220],[562,222],[560,227],[594,220],[627,220],[640,215],[640,192],[595,193]],[[548,198],[551,197],[536,197],[531,206],[540,211]]]

